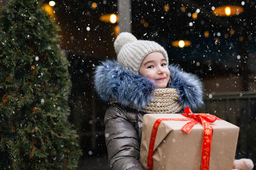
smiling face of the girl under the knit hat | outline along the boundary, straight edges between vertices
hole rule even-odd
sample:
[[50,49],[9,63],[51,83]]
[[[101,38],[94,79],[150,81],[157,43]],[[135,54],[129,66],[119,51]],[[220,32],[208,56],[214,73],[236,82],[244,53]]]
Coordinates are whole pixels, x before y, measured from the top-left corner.
[[156,88],[165,88],[170,80],[170,71],[161,52],[149,53],[141,63],[139,74],[148,77]]

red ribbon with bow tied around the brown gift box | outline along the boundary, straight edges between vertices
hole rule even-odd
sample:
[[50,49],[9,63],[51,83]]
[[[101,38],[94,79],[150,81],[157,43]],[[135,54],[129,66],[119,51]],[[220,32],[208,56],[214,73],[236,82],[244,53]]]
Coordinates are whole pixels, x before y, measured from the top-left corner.
[[215,120],[217,120],[218,118],[214,115],[209,115],[204,113],[199,113],[195,115],[188,107],[185,108],[184,113],[185,114],[180,114],[180,115],[183,115],[184,117],[187,117],[187,118],[158,118],[156,120],[150,136],[147,169],[152,170],[152,167],[153,167],[154,144],[156,140],[157,129],[161,124],[161,122],[167,121],[167,120],[174,120],[174,121],[190,120],[190,122],[185,124],[181,130],[189,134],[189,132],[191,132],[192,128],[194,127],[194,125],[196,125],[198,122],[203,125],[204,134],[203,134],[203,145],[202,145],[201,170],[209,170],[209,160],[210,160],[211,141],[212,141],[212,127],[209,123],[215,122]]

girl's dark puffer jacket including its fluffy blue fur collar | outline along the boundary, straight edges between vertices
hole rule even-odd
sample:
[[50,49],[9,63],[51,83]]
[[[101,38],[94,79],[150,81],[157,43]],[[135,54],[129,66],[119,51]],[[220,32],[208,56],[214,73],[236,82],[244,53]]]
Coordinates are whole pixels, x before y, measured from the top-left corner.
[[[202,83],[197,76],[185,73],[177,66],[171,65],[169,69],[172,83],[166,88],[177,89],[179,103],[193,110],[202,106]],[[154,84],[111,60],[97,66],[94,83],[100,99],[118,101],[118,104],[109,107],[104,118],[109,166],[116,170],[143,169],[140,164],[140,142],[144,113],[140,110],[151,100]]]

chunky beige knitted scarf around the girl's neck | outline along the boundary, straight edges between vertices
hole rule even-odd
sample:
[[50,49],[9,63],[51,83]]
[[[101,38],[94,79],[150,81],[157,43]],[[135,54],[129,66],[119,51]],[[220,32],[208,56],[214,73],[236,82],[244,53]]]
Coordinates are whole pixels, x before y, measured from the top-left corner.
[[[110,103],[118,103],[111,100]],[[131,106],[134,109],[134,106]],[[179,104],[179,93],[177,89],[155,89],[152,92],[152,99],[146,108],[140,111],[144,113],[177,113],[182,110],[183,106]]]

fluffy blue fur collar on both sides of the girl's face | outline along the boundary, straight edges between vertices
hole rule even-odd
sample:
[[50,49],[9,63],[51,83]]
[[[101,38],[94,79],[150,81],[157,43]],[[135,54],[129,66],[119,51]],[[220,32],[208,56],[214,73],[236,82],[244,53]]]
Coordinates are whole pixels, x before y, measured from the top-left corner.
[[[169,88],[178,90],[179,102],[197,110],[203,103],[202,82],[194,74],[181,71],[179,66],[169,66],[172,83]],[[151,100],[154,84],[148,78],[133,74],[118,62],[106,60],[97,66],[94,76],[95,90],[100,99],[109,102],[115,99],[122,106],[145,108]]]

